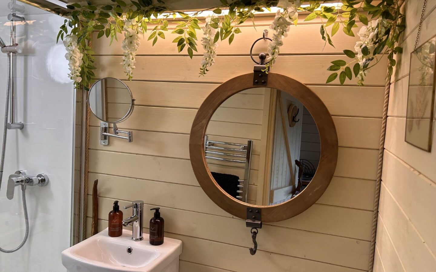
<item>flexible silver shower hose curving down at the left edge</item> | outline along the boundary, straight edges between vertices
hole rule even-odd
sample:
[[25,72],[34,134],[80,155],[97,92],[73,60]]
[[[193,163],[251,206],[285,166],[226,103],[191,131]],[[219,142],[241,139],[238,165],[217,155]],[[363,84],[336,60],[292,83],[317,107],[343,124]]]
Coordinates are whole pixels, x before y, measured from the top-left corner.
[[[0,188],[1,188],[1,181],[3,178],[3,166],[4,166],[4,153],[6,151],[6,136],[7,136],[7,118],[8,118],[8,112],[9,112],[9,95],[10,95],[10,62],[11,62],[11,53],[7,54],[7,87],[6,87],[6,107],[4,112],[4,126],[3,126],[3,144],[2,144],[2,151],[1,151],[1,161],[0,161]],[[27,217],[27,205],[26,205],[26,185],[21,185],[21,197],[23,199],[23,210],[24,210],[24,219],[26,221],[26,234],[24,235],[23,242],[21,244],[10,250],[6,250],[0,247],[0,252],[4,253],[12,253],[16,252],[18,249],[22,248],[23,245],[27,241],[27,237],[29,237],[29,218]]]

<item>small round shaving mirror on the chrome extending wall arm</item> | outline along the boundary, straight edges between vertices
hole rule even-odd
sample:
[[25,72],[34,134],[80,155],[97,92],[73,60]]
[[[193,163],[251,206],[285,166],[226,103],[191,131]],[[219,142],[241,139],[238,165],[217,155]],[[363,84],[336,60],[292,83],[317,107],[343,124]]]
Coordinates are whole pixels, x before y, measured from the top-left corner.
[[133,111],[129,87],[112,77],[102,78],[92,84],[88,104],[97,118],[111,124],[125,120]]

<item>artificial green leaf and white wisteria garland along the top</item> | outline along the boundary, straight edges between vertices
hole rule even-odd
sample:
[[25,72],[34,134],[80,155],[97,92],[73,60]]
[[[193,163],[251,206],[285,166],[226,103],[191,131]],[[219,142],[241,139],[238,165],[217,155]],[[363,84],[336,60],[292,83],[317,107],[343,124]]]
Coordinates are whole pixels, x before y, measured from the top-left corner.
[[[334,60],[327,70],[333,73],[327,78],[326,83],[339,77],[342,85],[346,79],[354,77],[358,79],[358,85],[364,85],[364,78],[368,69],[377,64],[385,55],[388,58],[388,76],[392,74],[395,66],[394,54],[402,53],[398,47],[399,37],[405,30],[405,17],[400,11],[402,0],[381,0],[372,4],[372,0],[341,0],[321,1],[311,0],[307,5],[301,5],[300,0],[279,1],[255,1],[255,0],[220,0],[218,7],[212,10],[213,15],[205,18],[203,28],[199,26],[201,20],[200,10],[194,13],[170,10],[162,0],[152,3],[152,0],[137,0],[126,3],[123,0],[111,0],[113,5],[95,5],[87,1],[86,4],[72,3],[68,5],[71,10],[69,20],[65,20],[60,27],[57,40],[64,41],[68,53],[65,57],[69,61],[70,73],[68,76],[74,81],[75,87],[79,84],[88,86],[95,77],[93,70],[95,58],[94,52],[88,47],[86,40],[92,39],[92,33],[98,31],[97,38],[110,38],[110,43],[117,40],[117,33],[124,33],[122,42],[124,71],[129,80],[133,78],[135,68],[136,50],[140,46],[139,35],[145,34],[147,25],[153,24],[148,40],[152,40],[153,46],[159,39],[165,39],[165,31],[168,31],[168,20],[173,19],[177,24],[173,33],[179,34],[173,40],[178,52],[187,51],[189,57],[193,57],[197,49],[197,30],[203,30],[204,37],[201,45],[204,50],[201,60],[200,76],[204,76],[214,64],[218,41],[228,40],[229,44],[235,38],[235,34],[241,33],[238,25],[248,19],[253,19],[255,13],[270,10],[271,7],[279,7],[271,24],[273,30],[272,41],[268,47],[267,69],[272,67],[279,49],[283,45],[283,37],[287,36],[290,26],[297,25],[298,12],[310,12],[304,21],[313,20],[317,17],[321,20],[321,38],[334,47],[331,37],[342,27],[342,31],[354,37],[353,28],[358,27],[359,20],[364,26],[357,32],[359,41],[354,50],[345,49],[344,54],[349,59]],[[327,6],[325,3],[332,3]],[[341,4],[341,5],[340,5]],[[228,10],[228,12],[224,12]],[[254,25],[254,24],[253,24]],[[357,54],[356,54],[357,52]],[[370,65],[371,64],[371,65]]]

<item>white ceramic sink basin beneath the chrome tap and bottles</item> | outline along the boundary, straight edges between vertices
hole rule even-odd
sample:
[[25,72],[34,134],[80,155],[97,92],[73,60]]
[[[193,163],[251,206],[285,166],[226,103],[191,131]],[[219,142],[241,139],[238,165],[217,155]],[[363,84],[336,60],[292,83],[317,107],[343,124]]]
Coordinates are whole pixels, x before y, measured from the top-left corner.
[[126,229],[119,237],[109,237],[106,228],[65,249],[62,264],[68,272],[179,271],[182,241],[165,237],[164,244],[157,246],[148,241],[148,234],[142,241],[132,241],[132,232]]

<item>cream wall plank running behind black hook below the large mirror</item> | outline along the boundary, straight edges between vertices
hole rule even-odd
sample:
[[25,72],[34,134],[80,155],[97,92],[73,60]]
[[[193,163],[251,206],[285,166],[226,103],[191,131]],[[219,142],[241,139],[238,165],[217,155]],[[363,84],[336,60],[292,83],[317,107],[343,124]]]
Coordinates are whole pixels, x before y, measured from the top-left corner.
[[[91,201],[91,196],[89,195],[88,197],[88,201]],[[106,220],[107,211],[111,209],[114,199],[99,197],[98,200],[99,218]],[[128,201],[120,201],[121,206],[128,203]],[[150,208],[153,207],[154,205],[144,205],[144,218],[153,217],[153,211],[150,211]],[[162,217],[165,218],[166,232],[247,248],[251,246],[252,239],[250,235],[247,235],[247,228],[242,219],[200,214],[165,207],[162,207],[160,212]],[[87,215],[92,215],[91,206],[88,207]],[[146,220],[144,221],[147,222]],[[363,256],[369,258],[367,252],[369,242],[356,242],[355,239],[351,238],[282,228],[269,224],[262,226],[262,230],[257,237],[257,242],[259,249],[262,247],[262,250],[266,252],[357,269],[365,269],[365,265],[367,265],[367,259],[362,258]],[[332,248],[334,250],[328,250]],[[246,255],[249,255],[248,251]],[[347,256],[347,258],[344,258],[344,256]]]

